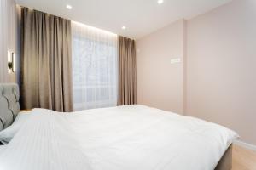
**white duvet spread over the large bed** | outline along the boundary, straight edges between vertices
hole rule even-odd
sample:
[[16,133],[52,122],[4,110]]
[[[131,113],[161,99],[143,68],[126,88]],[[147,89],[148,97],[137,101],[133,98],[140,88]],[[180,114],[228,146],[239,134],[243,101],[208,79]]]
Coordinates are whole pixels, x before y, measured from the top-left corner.
[[0,170],[213,170],[237,134],[143,105],[60,114],[35,109]]

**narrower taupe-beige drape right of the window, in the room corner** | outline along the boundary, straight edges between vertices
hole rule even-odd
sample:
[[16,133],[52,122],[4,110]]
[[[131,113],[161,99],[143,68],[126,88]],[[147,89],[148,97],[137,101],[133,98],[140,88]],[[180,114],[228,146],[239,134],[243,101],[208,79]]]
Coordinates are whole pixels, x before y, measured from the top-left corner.
[[118,105],[137,104],[135,41],[119,36],[119,99]]

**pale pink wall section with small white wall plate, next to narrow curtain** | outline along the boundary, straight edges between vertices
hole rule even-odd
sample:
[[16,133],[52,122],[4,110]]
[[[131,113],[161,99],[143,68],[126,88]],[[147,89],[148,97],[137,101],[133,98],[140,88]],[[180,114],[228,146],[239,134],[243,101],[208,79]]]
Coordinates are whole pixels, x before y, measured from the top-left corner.
[[137,41],[138,104],[183,113],[184,28],[178,20]]

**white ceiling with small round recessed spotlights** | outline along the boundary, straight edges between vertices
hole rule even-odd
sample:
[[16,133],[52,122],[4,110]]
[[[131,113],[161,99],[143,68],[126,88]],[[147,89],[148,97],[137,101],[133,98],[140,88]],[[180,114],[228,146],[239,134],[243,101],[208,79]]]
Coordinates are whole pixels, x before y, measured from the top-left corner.
[[[16,0],[89,26],[138,39],[168,24],[191,19],[231,0]],[[66,5],[72,5],[68,10]],[[126,26],[125,30],[121,29]]]

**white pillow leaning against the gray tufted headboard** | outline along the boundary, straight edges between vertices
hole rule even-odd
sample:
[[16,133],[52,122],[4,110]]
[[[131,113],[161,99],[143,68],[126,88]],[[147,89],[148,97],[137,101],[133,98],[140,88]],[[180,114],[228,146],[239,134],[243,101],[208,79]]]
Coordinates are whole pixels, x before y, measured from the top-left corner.
[[15,118],[15,122],[0,132],[0,141],[3,144],[8,144],[11,139],[15,136],[15,134],[20,130],[20,127],[24,125],[29,116],[31,115],[31,111],[23,111],[19,113]]

